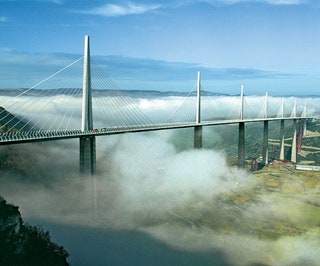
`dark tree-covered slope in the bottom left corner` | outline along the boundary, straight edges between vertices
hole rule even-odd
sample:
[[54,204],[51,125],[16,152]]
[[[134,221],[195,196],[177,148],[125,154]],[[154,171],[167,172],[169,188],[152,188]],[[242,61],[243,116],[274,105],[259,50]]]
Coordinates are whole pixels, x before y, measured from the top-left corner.
[[49,232],[25,225],[18,207],[0,196],[0,265],[69,265],[68,256]]

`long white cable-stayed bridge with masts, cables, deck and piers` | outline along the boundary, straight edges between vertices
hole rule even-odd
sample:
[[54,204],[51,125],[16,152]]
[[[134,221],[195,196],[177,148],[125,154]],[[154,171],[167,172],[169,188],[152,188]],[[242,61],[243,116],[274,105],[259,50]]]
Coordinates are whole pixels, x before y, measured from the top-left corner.
[[[295,162],[296,123],[311,117],[307,115],[306,103],[287,106],[282,98],[277,106],[270,105],[268,95],[263,102],[250,103],[243,87],[239,97],[215,100],[204,97],[200,72],[195,86],[186,96],[175,97],[171,109],[159,100],[163,105],[161,112],[145,112],[145,105],[150,102],[133,96],[118,88],[92,61],[86,36],[83,57],[29,89],[18,90],[14,96],[0,96],[3,107],[0,109],[0,145],[79,138],[80,169],[93,174],[96,136],[193,127],[194,146],[201,148],[202,127],[239,124],[238,163],[243,167],[245,123],[264,123],[263,158],[267,161],[268,122],[281,123],[279,158],[284,159],[283,123],[292,120],[292,161]],[[232,103],[228,103],[230,99]]]

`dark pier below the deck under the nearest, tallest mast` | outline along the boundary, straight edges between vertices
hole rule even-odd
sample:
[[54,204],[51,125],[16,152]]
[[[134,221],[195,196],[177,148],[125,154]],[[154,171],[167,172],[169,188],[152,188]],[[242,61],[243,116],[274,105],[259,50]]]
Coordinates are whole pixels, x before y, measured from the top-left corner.
[[80,172],[84,175],[94,175],[96,172],[95,137],[80,138]]

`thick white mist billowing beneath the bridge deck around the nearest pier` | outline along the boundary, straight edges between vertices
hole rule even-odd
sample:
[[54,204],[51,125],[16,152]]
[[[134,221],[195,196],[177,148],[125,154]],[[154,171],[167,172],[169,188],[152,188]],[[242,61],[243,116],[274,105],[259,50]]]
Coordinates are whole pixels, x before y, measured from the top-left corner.
[[227,167],[223,153],[179,152],[157,134],[99,139],[94,180],[77,174],[77,142],[23,147],[20,163],[34,162],[29,178],[2,171],[0,193],[26,218],[91,226],[95,212],[98,226],[143,229],[176,209],[201,208],[214,196],[249,185],[245,172]]

